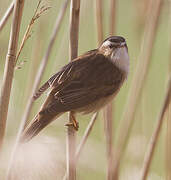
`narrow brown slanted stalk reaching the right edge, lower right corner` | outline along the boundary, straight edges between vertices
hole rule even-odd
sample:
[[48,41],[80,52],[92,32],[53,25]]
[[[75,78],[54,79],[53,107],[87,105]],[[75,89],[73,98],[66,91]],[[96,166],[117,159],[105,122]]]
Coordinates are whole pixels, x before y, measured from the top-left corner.
[[145,158],[144,158],[144,163],[143,163],[143,169],[142,169],[142,177],[140,178],[141,180],[146,180],[149,169],[150,169],[150,164],[154,155],[154,150],[157,144],[157,140],[160,134],[160,130],[163,124],[163,120],[164,120],[164,114],[169,106],[171,100],[171,76],[169,77],[169,82],[168,82],[168,87],[167,87],[167,91],[166,91],[166,95],[164,98],[164,102],[160,111],[160,114],[157,118],[157,125],[156,128],[154,130],[154,133],[151,137],[150,143],[149,143],[149,147],[147,149],[147,152],[145,154]]

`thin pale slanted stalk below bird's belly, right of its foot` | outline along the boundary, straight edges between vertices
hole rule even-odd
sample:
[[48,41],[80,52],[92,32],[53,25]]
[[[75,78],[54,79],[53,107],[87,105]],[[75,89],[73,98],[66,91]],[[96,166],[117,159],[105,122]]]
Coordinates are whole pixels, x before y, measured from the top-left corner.
[[[83,137],[82,137],[82,139],[80,141],[80,144],[77,147],[76,157],[75,157],[76,163],[77,163],[77,161],[78,161],[78,159],[80,157],[80,154],[81,154],[81,152],[82,152],[82,150],[84,148],[84,145],[85,145],[85,143],[86,143],[86,141],[87,141],[87,139],[88,139],[88,137],[89,137],[89,135],[90,135],[90,133],[92,131],[92,128],[94,126],[94,123],[96,122],[97,116],[98,116],[98,113],[95,113],[92,116],[92,118],[91,118],[91,120],[90,120],[90,122],[89,122],[89,124],[88,124],[88,126],[87,126],[87,128],[85,130],[85,132],[84,132],[84,135],[83,135]],[[66,178],[67,178],[67,174],[64,175],[63,180],[66,180]]]

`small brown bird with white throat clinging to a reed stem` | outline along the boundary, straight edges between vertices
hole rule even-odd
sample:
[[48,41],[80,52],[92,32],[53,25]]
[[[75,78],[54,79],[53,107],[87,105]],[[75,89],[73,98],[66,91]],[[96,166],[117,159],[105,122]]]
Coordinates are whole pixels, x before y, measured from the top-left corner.
[[66,125],[78,130],[75,114],[94,113],[111,102],[128,74],[129,54],[125,38],[106,38],[97,49],[62,67],[34,94],[36,100],[50,89],[39,112],[23,131],[20,142],[28,142],[68,111],[72,122]]

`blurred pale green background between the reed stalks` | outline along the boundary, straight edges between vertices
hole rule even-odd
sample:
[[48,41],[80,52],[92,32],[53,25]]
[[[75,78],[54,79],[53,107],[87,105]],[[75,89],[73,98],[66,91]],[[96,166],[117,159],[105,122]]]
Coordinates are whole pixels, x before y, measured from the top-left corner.
[[[0,17],[3,16],[11,1],[0,0]],[[27,61],[22,65],[21,69],[15,70],[10,106],[7,121],[7,131],[4,146],[4,162],[0,165],[0,175],[3,177],[6,171],[6,165],[9,159],[11,144],[16,137],[17,130],[26,107],[27,99],[30,96],[30,88],[32,87],[34,77],[36,75],[39,63],[46,52],[50,35],[53,30],[55,19],[58,15],[62,0],[43,1],[52,8],[45,12],[38,21],[34,24],[33,32],[27,41],[21,53],[19,61]],[[26,30],[26,27],[31,20],[35,7],[38,1],[29,0],[25,2],[24,14],[21,24],[20,41]],[[109,34],[109,0],[103,1],[104,9],[104,32],[105,38]],[[130,87],[131,79],[136,70],[138,56],[141,48],[141,40],[144,31],[144,19],[147,0],[118,0],[116,8],[116,34],[126,38],[129,55],[130,55],[130,75],[127,82],[124,84],[118,96],[115,98],[114,105],[114,142],[116,141],[120,119],[124,110],[127,94]],[[126,154],[121,164],[120,179],[134,180],[138,179],[142,168],[143,157],[147,148],[150,136],[156,124],[156,117],[161,108],[161,102],[164,97],[165,84],[169,66],[169,40],[171,39],[171,21],[169,20],[169,1],[165,0],[160,17],[159,28],[157,30],[156,41],[153,49],[153,55],[150,66],[150,71],[143,89],[143,96],[138,104],[136,112],[135,124],[132,129],[131,138],[126,150]],[[79,33],[79,54],[87,50],[97,47],[97,29],[95,23],[95,0],[81,0],[80,10],[80,33]],[[0,32],[0,84],[4,72],[5,58],[8,49],[10,25],[12,18]],[[46,81],[52,74],[57,72],[60,67],[65,65],[68,59],[69,46],[69,7],[62,23],[60,32],[56,38],[53,51],[50,55],[46,71],[42,82]],[[39,109],[46,94],[38,99],[34,104],[31,118]],[[79,131],[77,141],[81,139],[85,128],[89,123],[89,116],[78,116]],[[44,129],[37,141],[48,148],[48,153],[51,153],[54,158],[52,166],[60,164],[60,168],[56,168],[56,174],[51,173],[46,167],[46,163],[41,168],[37,167],[37,171],[33,171],[32,175],[23,179],[61,179],[62,173],[65,171],[65,146],[66,146],[66,128],[64,124],[67,122],[67,114],[60,117],[58,120],[50,124]],[[46,138],[52,138],[47,141]],[[35,139],[36,139],[35,138]],[[44,139],[45,138],[45,139]],[[36,140],[35,140],[36,141]],[[57,143],[58,142],[58,143]],[[53,144],[53,146],[52,146]],[[56,147],[55,147],[56,146]],[[57,147],[60,146],[60,147]],[[57,151],[55,148],[59,148]],[[35,146],[36,148],[36,146]],[[40,148],[43,153],[44,146]],[[53,149],[53,150],[51,150]],[[31,149],[34,152],[34,148]],[[78,179],[98,179],[103,180],[106,177],[106,145],[104,135],[104,121],[102,112],[93,127],[93,131],[87,141],[87,144],[81,154],[80,161],[77,165]],[[151,171],[148,179],[166,179],[166,121],[162,128],[159,143],[156,148],[155,156],[152,162]],[[57,153],[57,154],[56,154]],[[28,152],[29,154],[29,152]],[[20,154],[19,154],[20,155]],[[29,156],[29,155],[28,155]],[[61,160],[59,160],[59,157]],[[42,155],[42,158],[44,155]],[[29,160],[28,160],[29,161]],[[38,160],[37,160],[38,161]],[[23,166],[27,164],[24,161]],[[33,162],[34,164],[34,162]],[[43,164],[43,163],[42,163]],[[48,163],[47,163],[48,166]],[[46,169],[47,168],[47,169]],[[46,169],[46,174],[42,175],[42,171]],[[27,173],[26,173],[27,174]],[[0,178],[3,179],[3,178]]]

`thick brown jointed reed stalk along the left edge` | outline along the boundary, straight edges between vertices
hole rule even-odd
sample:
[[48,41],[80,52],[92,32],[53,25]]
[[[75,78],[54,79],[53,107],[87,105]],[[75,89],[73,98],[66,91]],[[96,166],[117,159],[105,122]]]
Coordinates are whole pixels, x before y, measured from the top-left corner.
[[6,120],[8,114],[8,105],[11,94],[13,74],[15,68],[15,58],[17,53],[18,38],[20,31],[21,18],[23,14],[24,0],[16,0],[14,4],[14,15],[11,26],[11,34],[6,57],[6,64],[3,76],[3,83],[0,95],[0,151],[6,128]]

